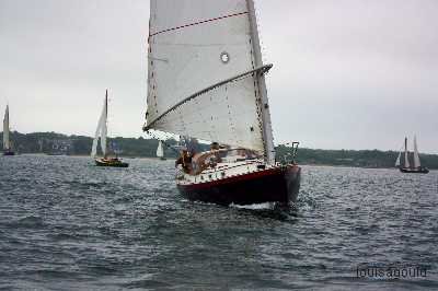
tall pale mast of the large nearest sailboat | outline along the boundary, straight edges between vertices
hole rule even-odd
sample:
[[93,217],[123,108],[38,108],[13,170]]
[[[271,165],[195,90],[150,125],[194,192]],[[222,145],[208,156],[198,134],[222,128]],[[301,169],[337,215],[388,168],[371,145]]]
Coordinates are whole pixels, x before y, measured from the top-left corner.
[[[254,53],[254,66],[256,68],[263,66],[262,60],[262,49],[260,45],[258,38],[258,27],[257,27],[257,20],[255,16],[255,8],[253,0],[246,0],[246,5],[249,10],[249,18],[250,18],[250,30],[251,30],[251,43],[253,45],[253,53]],[[258,94],[257,102],[260,104],[261,113],[262,113],[262,136],[263,136],[263,143],[265,149],[265,161],[268,164],[275,163],[275,148],[274,148],[274,137],[273,137],[273,127],[270,123],[270,113],[269,113],[269,104],[267,100],[267,90],[266,90],[266,82],[265,77],[262,73],[257,73],[257,86],[258,86]]]

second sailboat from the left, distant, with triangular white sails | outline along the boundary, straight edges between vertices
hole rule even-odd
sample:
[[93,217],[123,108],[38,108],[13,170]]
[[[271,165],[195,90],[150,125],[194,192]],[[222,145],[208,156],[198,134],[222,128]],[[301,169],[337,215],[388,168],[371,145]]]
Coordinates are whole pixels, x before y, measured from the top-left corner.
[[[108,90],[105,93],[105,100],[103,104],[103,109],[101,114],[101,118],[97,123],[97,128],[94,135],[93,146],[91,150],[91,156],[94,159],[94,162],[97,166],[115,166],[115,167],[128,167],[129,164],[123,162],[118,159],[117,154],[114,152],[114,156],[111,156],[110,151],[106,147],[106,135],[107,135],[107,117],[108,117]],[[96,158],[97,155],[97,143],[99,138],[101,139],[101,149],[103,153],[103,158]]]

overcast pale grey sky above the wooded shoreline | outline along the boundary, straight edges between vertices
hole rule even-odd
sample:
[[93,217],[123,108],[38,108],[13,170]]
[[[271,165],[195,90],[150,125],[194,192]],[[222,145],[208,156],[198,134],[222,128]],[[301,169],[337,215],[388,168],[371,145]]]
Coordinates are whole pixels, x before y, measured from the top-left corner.
[[[276,143],[438,153],[438,1],[256,0]],[[20,132],[143,136],[148,0],[0,0],[0,110]]]

